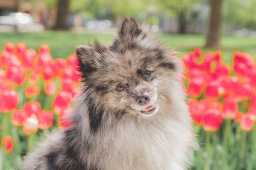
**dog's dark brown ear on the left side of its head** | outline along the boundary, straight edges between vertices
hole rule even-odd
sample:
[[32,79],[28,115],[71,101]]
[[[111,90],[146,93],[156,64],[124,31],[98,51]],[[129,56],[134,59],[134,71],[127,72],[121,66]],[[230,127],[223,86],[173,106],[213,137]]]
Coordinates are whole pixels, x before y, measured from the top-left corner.
[[83,78],[100,68],[100,60],[104,51],[106,47],[98,41],[95,41],[93,46],[79,45],[76,47],[76,56]]

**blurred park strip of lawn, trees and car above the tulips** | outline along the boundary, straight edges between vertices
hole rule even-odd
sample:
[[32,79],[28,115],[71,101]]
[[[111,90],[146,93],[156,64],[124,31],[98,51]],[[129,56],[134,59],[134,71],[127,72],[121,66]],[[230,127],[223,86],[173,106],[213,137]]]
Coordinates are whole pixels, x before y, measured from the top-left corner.
[[126,16],[131,16],[139,22],[150,24],[152,31],[163,33],[166,47],[182,53],[193,47],[222,47],[228,56],[231,56],[228,52],[234,50],[246,51],[255,56],[256,0],[212,2],[1,0],[0,47],[6,41],[23,41],[29,47],[49,42],[51,46],[55,44],[63,47],[63,51],[57,50],[55,45],[52,47],[54,57],[64,57],[74,51],[75,45],[88,43],[94,38],[102,43],[111,42],[115,27]]

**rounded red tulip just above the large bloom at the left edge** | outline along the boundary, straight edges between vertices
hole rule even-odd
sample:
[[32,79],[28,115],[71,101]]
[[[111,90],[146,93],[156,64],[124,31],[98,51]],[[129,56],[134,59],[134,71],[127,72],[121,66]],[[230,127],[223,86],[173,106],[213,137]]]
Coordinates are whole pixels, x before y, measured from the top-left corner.
[[10,82],[21,85],[24,83],[26,78],[25,69],[23,67],[11,66],[7,69],[6,78]]

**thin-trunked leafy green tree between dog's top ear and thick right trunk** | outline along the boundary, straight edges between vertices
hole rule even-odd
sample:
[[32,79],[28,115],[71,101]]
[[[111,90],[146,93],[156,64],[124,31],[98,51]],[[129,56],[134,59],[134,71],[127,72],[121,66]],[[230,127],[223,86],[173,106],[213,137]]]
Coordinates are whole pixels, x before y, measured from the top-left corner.
[[199,0],[158,0],[162,11],[170,10],[173,15],[178,17],[179,33],[186,33],[188,18],[193,10],[192,6]]

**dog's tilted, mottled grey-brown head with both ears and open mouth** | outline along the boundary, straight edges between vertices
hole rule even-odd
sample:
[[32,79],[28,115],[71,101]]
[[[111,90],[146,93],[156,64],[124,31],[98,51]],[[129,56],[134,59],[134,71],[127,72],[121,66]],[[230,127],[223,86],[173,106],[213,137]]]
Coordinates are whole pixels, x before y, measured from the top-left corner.
[[157,113],[160,95],[172,86],[168,79],[180,69],[176,57],[131,18],[124,20],[112,45],[80,45],[76,55],[90,111],[117,117]]

